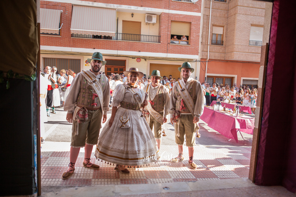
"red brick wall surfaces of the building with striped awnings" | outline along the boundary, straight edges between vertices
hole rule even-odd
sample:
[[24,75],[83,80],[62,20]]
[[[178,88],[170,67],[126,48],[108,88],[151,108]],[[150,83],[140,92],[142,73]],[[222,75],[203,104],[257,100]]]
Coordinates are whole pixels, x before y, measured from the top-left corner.
[[[179,2],[172,0],[103,0],[99,3],[150,7],[157,9],[168,10],[186,10],[190,12],[201,12],[201,1],[194,3]],[[141,51],[152,53],[168,53],[168,54],[198,54],[199,46],[199,29],[200,29],[200,16],[186,15],[186,14],[171,14],[162,12],[159,16],[159,36],[161,36],[161,43],[148,43],[148,42],[133,42],[133,41],[117,41],[117,40],[104,40],[104,39],[91,39],[91,38],[72,38],[70,27],[72,18],[72,4],[40,1],[41,8],[47,9],[61,9],[61,36],[41,35],[41,46],[59,46],[59,47],[73,47],[73,48],[88,48],[88,49],[104,49],[104,50],[121,50],[121,51]],[[131,11],[132,12],[132,11]],[[191,22],[190,32],[190,46],[169,44],[171,39],[171,21]]]

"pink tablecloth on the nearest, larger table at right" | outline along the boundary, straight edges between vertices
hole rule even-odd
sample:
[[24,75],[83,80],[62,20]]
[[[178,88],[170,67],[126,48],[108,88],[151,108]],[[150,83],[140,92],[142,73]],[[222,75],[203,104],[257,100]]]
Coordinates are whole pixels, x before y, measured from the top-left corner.
[[225,137],[234,139],[236,143],[238,142],[238,129],[241,132],[253,135],[254,119],[229,116],[207,107],[204,108],[204,113],[200,116],[200,119]]

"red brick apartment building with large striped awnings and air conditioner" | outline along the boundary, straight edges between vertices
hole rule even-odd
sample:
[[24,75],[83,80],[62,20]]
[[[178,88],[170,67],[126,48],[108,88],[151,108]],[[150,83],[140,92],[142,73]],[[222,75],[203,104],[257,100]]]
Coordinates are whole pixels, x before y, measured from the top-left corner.
[[192,77],[199,79],[201,5],[201,0],[40,1],[41,67],[78,73],[90,68],[87,58],[99,51],[107,75],[137,67],[146,75],[157,69],[178,78],[177,68],[190,61]]

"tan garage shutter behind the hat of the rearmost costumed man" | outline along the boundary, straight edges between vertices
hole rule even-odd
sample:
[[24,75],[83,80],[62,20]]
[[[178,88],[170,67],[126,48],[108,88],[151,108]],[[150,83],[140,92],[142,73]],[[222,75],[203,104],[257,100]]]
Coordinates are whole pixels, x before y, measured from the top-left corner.
[[178,81],[178,78],[181,78],[181,73],[178,70],[178,67],[181,67],[181,65],[172,65],[172,64],[150,64],[149,74],[152,73],[153,70],[159,70],[160,75],[166,76],[167,78],[170,78],[170,74],[172,75],[172,78],[175,78],[176,81]]

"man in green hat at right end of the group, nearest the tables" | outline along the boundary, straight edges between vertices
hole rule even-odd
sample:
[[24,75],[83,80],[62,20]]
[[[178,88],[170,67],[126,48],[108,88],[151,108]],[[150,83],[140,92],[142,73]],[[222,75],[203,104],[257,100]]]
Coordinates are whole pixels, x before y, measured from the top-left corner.
[[195,133],[198,130],[199,117],[204,111],[204,94],[201,84],[191,78],[194,71],[189,62],[184,62],[178,68],[182,79],[175,82],[169,103],[168,112],[171,114],[171,123],[175,124],[175,140],[178,144],[179,155],[172,162],[183,161],[183,143],[186,137],[186,146],[189,152],[189,164],[192,169],[197,166],[193,161]]

